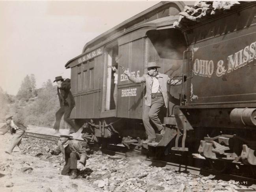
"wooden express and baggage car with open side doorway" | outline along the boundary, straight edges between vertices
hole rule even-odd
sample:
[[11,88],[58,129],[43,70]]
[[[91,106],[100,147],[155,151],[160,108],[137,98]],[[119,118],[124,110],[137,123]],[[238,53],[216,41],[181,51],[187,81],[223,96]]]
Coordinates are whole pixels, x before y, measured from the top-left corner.
[[[173,24],[184,7],[183,2],[160,2],[86,43],[82,54],[67,62],[76,103],[71,118],[78,125],[91,128],[99,140],[109,138],[108,142],[132,138],[136,145],[146,138],[142,123],[145,85],[129,81],[122,67],[142,76],[148,62],[157,62],[161,73],[181,76],[187,45]],[[116,102],[113,67],[118,68]],[[162,120],[179,105],[181,91],[182,86],[170,89],[171,110],[163,110]]]

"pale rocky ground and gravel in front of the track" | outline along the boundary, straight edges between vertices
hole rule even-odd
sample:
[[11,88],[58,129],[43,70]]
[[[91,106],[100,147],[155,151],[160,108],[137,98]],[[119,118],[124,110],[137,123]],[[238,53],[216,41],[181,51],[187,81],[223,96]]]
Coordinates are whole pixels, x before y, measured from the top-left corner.
[[[56,143],[23,138],[24,153],[15,148],[12,155],[3,151],[9,144],[9,133],[0,136],[0,191],[1,192],[212,192],[246,189],[233,181],[215,180],[214,176],[195,176],[150,166],[146,157],[127,158],[105,155],[94,151],[88,155],[79,178],[60,175],[64,166],[62,155],[46,153]],[[253,186],[252,186],[253,187]],[[245,190],[243,190],[245,191]]]

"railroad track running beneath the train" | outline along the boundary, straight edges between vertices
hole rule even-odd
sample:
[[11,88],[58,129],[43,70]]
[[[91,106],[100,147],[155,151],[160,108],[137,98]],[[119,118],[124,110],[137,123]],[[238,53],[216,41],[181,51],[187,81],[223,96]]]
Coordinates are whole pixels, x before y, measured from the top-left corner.
[[[26,132],[25,137],[30,137],[30,138],[38,138],[38,139],[43,139],[43,140],[50,140],[52,142],[57,142],[60,138],[60,136],[52,136],[52,135],[47,135],[47,134],[38,134],[38,133],[32,133],[32,132]],[[79,142],[82,143],[84,146],[88,146],[87,143],[84,140],[78,140]],[[108,154],[108,155],[121,155],[123,157],[127,157],[128,149],[124,145],[114,145],[114,144],[108,144],[107,148],[109,149],[100,149],[100,147],[95,147],[95,146],[90,146],[94,151],[101,150],[103,153]],[[122,152],[120,152],[122,151]],[[138,153],[138,151],[136,151]],[[177,155],[177,154],[176,154]],[[186,158],[186,157],[183,157]],[[196,162],[195,164],[199,164],[202,166],[203,160],[198,159],[199,162]],[[146,158],[145,162],[148,165],[152,166],[158,166],[158,167],[165,167],[170,170],[175,170],[179,172],[185,172],[185,173],[191,173],[192,175],[215,175],[214,179],[217,180],[226,180],[230,181],[233,180],[237,184],[244,185],[244,186],[250,186],[252,184],[256,183],[256,179],[250,178],[250,177],[245,177],[243,175],[234,175],[234,174],[223,174],[223,173],[217,173],[214,170],[205,170],[200,167],[195,167],[195,166],[189,166],[187,164],[178,164],[175,162],[169,162],[169,161],[164,161],[164,160],[152,160],[150,158]],[[233,182],[232,181],[232,182]]]

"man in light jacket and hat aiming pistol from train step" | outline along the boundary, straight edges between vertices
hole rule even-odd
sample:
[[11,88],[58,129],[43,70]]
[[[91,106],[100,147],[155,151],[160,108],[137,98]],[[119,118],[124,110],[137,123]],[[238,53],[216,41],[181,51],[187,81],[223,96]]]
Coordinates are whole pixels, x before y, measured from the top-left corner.
[[180,85],[181,80],[172,80],[168,75],[161,74],[157,71],[160,68],[155,62],[148,63],[148,73],[142,77],[134,77],[129,71],[124,71],[129,80],[134,83],[146,82],[145,108],[143,112],[143,124],[148,135],[148,139],[144,144],[155,142],[155,130],[150,121],[157,127],[161,134],[164,134],[164,126],[162,125],[158,114],[162,106],[168,107],[167,84],[172,86]]

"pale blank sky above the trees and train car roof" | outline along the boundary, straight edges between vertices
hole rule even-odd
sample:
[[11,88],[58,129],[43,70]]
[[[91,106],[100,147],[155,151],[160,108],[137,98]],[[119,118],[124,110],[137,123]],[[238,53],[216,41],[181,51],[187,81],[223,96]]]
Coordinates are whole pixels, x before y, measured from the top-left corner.
[[0,87],[16,95],[26,75],[37,88],[55,76],[94,37],[158,1],[0,1]]

